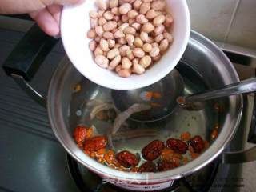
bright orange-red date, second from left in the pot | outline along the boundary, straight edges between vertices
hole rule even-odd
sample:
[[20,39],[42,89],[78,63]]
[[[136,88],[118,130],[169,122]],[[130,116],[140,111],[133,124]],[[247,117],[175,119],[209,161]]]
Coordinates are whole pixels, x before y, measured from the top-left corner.
[[96,151],[105,148],[107,144],[106,137],[96,136],[94,138],[89,138],[84,142],[83,149],[86,151]]

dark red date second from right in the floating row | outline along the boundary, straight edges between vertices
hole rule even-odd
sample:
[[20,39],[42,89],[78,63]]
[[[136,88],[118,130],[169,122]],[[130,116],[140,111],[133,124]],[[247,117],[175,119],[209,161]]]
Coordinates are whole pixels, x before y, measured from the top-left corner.
[[177,154],[186,154],[186,150],[188,149],[186,142],[182,142],[182,140],[177,138],[169,138],[166,141],[166,147],[174,150]]

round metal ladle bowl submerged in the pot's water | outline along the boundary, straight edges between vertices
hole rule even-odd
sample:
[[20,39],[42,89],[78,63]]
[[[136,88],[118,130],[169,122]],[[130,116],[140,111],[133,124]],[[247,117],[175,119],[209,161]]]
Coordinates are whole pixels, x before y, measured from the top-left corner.
[[[165,78],[151,86],[137,90],[112,90],[111,92],[114,105],[118,110],[127,110],[135,103],[151,106],[150,110],[133,114],[131,119],[139,122],[152,122],[171,114],[178,106],[176,98],[183,94],[183,91],[183,79],[178,70],[173,70]],[[158,94],[158,97],[151,94]]]

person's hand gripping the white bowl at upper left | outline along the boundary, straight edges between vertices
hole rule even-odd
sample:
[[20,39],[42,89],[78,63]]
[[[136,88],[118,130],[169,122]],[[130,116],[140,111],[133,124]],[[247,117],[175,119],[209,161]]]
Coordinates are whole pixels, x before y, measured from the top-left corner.
[[84,0],[0,0],[2,14],[30,14],[38,26],[50,36],[60,33],[59,22],[62,6]]

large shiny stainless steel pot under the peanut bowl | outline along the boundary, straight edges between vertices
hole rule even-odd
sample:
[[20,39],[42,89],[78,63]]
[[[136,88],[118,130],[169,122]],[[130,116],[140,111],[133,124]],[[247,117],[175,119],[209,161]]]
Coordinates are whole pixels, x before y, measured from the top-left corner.
[[[44,99],[42,97],[40,98],[40,94],[36,93],[35,90],[32,90],[29,84],[22,78],[22,73],[14,73],[15,71],[17,72],[17,70],[14,70],[14,67],[10,67],[14,66],[14,62],[10,63],[7,59],[6,63],[5,69],[7,73],[11,74],[29,94],[32,94],[34,98],[37,98],[39,102],[43,103]],[[238,74],[234,70],[232,63],[226,58],[226,55],[223,54],[217,46],[214,46],[212,42],[194,31],[190,34],[190,42],[177,69],[182,74],[183,78],[187,79],[185,94],[192,94],[200,90],[239,81]],[[74,86],[78,83],[82,84],[82,90],[84,92],[75,96],[73,90]],[[178,135],[182,131],[190,129],[191,134],[202,134],[204,138],[209,139],[211,129],[214,124],[218,122],[221,129],[218,138],[212,142],[210,147],[198,158],[174,170],[150,174],[127,173],[104,166],[88,157],[78,148],[72,136],[74,126],[86,119],[86,112],[82,118],[75,114],[82,102],[90,98],[109,98],[111,100],[113,98],[110,98],[110,95],[111,90],[97,86],[89,82],[86,78],[83,78],[82,75],[74,69],[74,66],[70,64],[69,60],[64,58],[58,65],[50,81],[46,106],[50,125],[54,130],[56,138],[62,143],[66,151],[94,173],[104,178],[111,178],[110,181],[114,182],[115,185],[129,190],[146,191],[164,189],[171,186],[175,179],[182,178],[200,170],[222,153],[227,143],[230,142],[231,138],[234,136],[242,117],[242,95],[230,96],[210,102],[209,107],[205,110],[197,112],[177,112],[176,116],[180,113],[178,114],[178,118],[170,116],[163,122],[165,127],[164,131],[168,130],[168,127],[175,125],[173,130],[169,129],[169,134]],[[214,114],[214,110],[210,108],[215,102],[224,106],[221,115]],[[196,129],[191,128],[191,126],[187,125],[186,120],[182,119],[184,113],[189,115],[190,118],[194,116],[198,117],[199,122],[191,122],[191,126],[196,126]],[[186,118],[187,117],[188,116],[186,116]],[[153,126],[155,125],[162,126],[161,122]],[[98,126],[104,125],[99,123]],[[100,128],[100,130],[104,133],[102,128]],[[157,133],[158,136],[162,133],[161,131],[160,129]],[[134,149],[136,146],[141,146],[143,143],[150,141],[149,139],[153,140],[152,138],[140,139],[139,142],[136,143],[133,141],[130,145],[134,145]],[[118,147],[118,149],[122,149],[123,146]],[[255,148],[247,152],[255,154]],[[226,154],[225,159],[234,159],[229,158],[231,156],[234,157],[234,155],[235,154]],[[242,161],[251,161],[255,160],[255,158],[255,156],[251,156],[250,159],[242,159]]]

